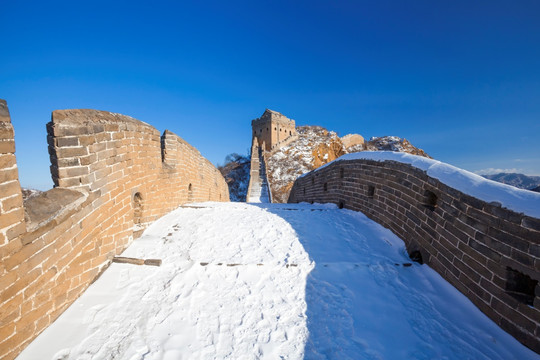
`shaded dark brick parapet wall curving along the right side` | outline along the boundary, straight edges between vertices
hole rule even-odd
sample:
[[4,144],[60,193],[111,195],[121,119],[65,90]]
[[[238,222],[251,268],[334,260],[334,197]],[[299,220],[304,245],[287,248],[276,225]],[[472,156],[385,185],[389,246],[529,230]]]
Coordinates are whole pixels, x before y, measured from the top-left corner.
[[297,179],[289,202],[363,212],[540,353],[540,219],[468,196],[395,161],[334,162]]

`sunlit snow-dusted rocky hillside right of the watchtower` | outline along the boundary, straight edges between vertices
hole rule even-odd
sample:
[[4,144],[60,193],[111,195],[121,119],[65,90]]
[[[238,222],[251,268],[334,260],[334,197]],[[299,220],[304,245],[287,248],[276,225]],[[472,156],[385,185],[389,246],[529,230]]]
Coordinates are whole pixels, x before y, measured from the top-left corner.
[[[299,126],[298,139],[267,157],[267,173],[274,202],[287,202],[294,180],[300,175],[358,151],[399,151],[430,157],[423,150],[397,136],[372,138],[364,142],[359,135],[343,138],[320,126]],[[351,141],[351,139],[356,139]],[[346,146],[347,144],[348,146]]]

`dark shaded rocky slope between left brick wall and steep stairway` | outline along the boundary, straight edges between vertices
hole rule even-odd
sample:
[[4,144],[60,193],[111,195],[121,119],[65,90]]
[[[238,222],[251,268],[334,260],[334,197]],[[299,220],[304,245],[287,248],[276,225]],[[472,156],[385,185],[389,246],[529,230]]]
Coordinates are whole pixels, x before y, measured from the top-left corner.
[[229,198],[231,201],[246,201],[249,186],[249,157],[230,154],[225,158],[225,165],[218,166],[221,175],[229,185]]

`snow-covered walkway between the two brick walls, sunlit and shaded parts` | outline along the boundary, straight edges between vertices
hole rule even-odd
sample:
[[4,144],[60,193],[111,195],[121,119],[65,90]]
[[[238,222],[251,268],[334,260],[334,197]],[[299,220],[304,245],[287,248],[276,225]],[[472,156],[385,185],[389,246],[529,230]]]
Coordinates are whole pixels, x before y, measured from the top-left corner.
[[403,242],[334,205],[204,203],[153,223],[23,359],[540,359]]

